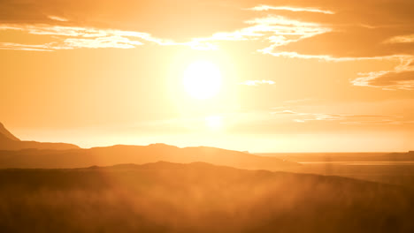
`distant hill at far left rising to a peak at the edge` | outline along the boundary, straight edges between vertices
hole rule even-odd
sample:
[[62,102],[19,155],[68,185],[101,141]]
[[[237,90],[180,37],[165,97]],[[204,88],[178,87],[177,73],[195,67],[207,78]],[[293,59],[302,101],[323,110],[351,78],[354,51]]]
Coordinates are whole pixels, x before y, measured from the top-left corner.
[[50,149],[50,150],[67,150],[77,149],[78,146],[67,143],[50,143],[37,141],[22,141],[9,132],[3,124],[0,123],[0,150],[22,150],[22,149]]

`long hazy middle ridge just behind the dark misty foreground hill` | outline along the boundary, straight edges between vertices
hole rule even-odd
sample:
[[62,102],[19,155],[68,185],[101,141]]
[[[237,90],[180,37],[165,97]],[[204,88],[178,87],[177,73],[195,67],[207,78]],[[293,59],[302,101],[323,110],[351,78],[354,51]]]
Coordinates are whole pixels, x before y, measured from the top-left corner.
[[300,166],[278,158],[258,156],[214,147],[113,146],[90,149],[0,151],[0,168],[80,168],[119,163],[210,162],[240,169],[281,169]]

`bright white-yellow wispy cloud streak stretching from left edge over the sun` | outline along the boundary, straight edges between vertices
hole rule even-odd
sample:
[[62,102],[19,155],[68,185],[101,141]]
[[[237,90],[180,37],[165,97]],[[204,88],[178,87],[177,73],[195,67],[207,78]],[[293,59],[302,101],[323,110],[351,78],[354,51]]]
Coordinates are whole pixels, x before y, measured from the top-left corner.
[[[299,11],[298,8],[291,8],[290,10]],[[53,19],[57,21],[57,23],[65,23],[67,21],[67,19],[58,16],[49,16],[49,19]],[[184,42],[155,38],[150,34],[142,32],[85,26],[4,24],[0,25],[0,30],[18,30],[27,34],[57,36],[58,40],[53,41],[53,47],[46,44],[42,45],[48,49],[132,49],[138,45],[150,42],[158,45],[179,45],[188,46],[192,49],[214,50],[219,49],[220,41],[267,41],[270,46],[263,49],[263,53],[272,51],[276,47],[287,45],[295,41],[301,41],[305,38],[317,34],[324,34],[332,30],[330,27],[318,23],[304,22],[272,15],[264,18],[249,19],[245,21],[245,24],[246,27],[233,32],[218,32],[212,34],[210,37],[193,38],[190,41]],[[24,47],[19,48],[24,49]]]

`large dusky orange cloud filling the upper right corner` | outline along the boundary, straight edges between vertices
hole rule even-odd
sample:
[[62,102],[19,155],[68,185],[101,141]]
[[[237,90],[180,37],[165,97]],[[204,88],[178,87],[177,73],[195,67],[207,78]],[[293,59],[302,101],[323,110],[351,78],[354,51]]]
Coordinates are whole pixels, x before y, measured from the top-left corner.
[[[303,1],[281,1],[281,5],[295,6],[302,9]],[[309,3],[308,3],[309,4]],[[265,54],[292,52],[299,55],[326,57],[372,57],[414,54],[414,2],[386,1],[376,4],[375,1],[346,1],[341,4],[326,1],[313,1],[317,6],[311,9],[334,12],[310,14],[301,11],[277,11],[278,15],[288,19],[314,22],[331,28],[323,34],[315,34],[302,40],[281,44],[279,47],[258,49]],[[355,7],[355,6],[358,7]],[[285,6],[259,5],[252,9],[257,11],[280,9]],[[289,8],[288,7],[288,8]],[[282,10],[280,9],[280,10]],[[307,9],[307,8],[305,8]],[[369,12],[369,13],[367,13]],[[386,41],[386,42],[384,42]],[[303,58],[296,56],[295,58]]]

